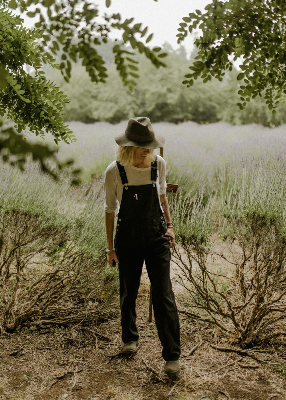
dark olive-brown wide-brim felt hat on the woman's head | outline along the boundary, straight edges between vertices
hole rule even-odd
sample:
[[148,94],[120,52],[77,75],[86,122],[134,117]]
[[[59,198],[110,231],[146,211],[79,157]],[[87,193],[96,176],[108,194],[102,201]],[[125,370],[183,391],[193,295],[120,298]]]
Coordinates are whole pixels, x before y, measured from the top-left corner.
[[115,142],[121,146],[156,149],[163,147],[165,139],[153,131],[151,122],[147,117],[129,118],[125,132],[115,136]]

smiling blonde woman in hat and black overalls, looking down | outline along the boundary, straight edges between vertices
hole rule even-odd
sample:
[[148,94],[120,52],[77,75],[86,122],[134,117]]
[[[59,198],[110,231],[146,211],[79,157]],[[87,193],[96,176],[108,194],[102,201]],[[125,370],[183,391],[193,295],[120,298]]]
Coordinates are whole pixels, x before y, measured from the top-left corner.
[[123,352],[133,353],[138,346],[135,307],[145,260],[165,372],[177,374],[179,318],[169,273],[175,236],[166,196],[165,161],[154,153],[165,140],[155,137],[149,118],[138,117],[129,119],[125,133],[115,141],[120,146],[117,161],[105,171],[105,224],[107,261],[111,266],[119,264]]

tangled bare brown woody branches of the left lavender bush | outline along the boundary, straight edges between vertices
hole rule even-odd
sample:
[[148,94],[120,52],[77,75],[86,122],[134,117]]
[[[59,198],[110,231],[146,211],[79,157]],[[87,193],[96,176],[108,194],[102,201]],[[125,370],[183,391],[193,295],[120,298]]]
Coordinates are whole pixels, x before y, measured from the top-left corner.
[[25,325],[87,325],[113,318],[117,310],[105,300],[101,266],[102,260],[78,252],[67,228],[6,212],[0,216],[0,323],[15,332]]

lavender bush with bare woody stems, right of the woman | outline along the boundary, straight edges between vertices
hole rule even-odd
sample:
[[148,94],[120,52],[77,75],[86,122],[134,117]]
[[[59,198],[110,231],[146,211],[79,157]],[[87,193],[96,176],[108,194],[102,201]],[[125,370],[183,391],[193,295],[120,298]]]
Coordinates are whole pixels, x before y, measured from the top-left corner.
[[[262,157],[252,168],[242,168],[226,193],[221,191],[219,204],[213,197],[204,206],[202,196],[193,200],[191,210],[189,202],[174,204],[175,233],[183,250],[175,248],[173,259],[190,295],[191,310],[185,314],[215,324],[243,348],[286,336],[282,161],[270,164]],[[226,242],[225,250],[217,250],[215,231]]]

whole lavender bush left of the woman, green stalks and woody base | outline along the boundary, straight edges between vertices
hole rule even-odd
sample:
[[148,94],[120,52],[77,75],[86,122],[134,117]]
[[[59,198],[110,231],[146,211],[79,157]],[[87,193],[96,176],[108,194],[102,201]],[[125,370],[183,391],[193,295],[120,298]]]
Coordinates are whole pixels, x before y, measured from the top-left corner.
[[0,185],[2,326],[90,324],[117,314],[116,271],[105,261],[102,182],[70,186],[2,165]]

